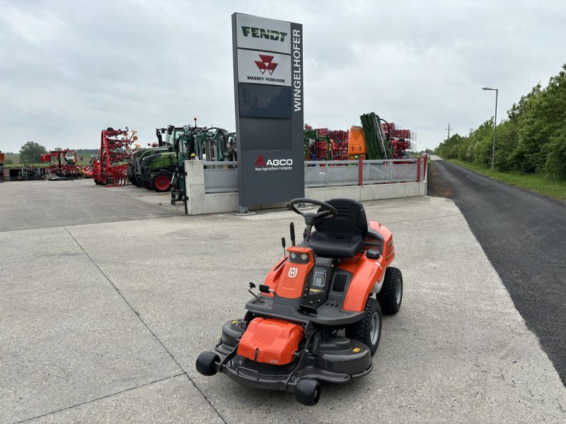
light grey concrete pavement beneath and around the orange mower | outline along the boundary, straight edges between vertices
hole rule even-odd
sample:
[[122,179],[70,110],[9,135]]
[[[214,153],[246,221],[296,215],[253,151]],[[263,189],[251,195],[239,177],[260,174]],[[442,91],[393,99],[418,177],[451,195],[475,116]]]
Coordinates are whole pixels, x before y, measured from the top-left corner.
[[374,371],[323,385],[308,408],[194,365],[299,216],[187,217],[112,190],[132,216],[156,215],[0,232],[0,422],[565,420],[566,389],[452,201],[364,202],[393,231],[403,306],[384,319]]

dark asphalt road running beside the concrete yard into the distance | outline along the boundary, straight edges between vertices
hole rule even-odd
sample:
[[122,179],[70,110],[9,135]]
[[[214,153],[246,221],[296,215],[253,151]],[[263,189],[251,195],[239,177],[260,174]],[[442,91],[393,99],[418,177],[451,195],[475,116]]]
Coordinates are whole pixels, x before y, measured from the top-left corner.
[[566,385],[566,205],[444,160],[433,166],[432,188],[454,200]]

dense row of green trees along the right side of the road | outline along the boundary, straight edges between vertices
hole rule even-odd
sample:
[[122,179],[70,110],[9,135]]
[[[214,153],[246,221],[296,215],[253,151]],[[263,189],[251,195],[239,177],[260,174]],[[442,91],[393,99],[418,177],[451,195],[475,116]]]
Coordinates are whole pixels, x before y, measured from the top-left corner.
[[[497,124],[495,167],[502,172],[544,174],[566,181],[566,64],[548,86],[541,83]],[[491,167],[493,119],[468,136],[454,134],[435,153]]]

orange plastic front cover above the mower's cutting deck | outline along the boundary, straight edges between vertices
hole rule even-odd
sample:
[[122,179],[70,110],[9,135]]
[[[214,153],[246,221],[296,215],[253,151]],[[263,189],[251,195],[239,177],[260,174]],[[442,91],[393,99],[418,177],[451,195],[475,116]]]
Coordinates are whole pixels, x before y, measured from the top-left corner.
[[299,348],[304,329],[282,319],[254,318],[238,345],[238,355],[260,363],[288,364]]

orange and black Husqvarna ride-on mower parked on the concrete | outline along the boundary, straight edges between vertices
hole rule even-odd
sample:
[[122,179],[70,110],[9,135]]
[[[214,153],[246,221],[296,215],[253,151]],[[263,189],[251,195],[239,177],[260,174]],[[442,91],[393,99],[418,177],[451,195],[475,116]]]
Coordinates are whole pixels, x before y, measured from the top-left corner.
[[[307,213],[299,204],[319,208]],[[202,352],[196,366],[202,375],[224,372],[250,387],[290,391],[312,406],[320,382],[347,383],[371,371],[381,312],[398,312],[403,277],[390,266],[391,231],[368,221],[359,202],[294,199],[288,206],[304,217],[304,240],[295,245],[291,223],[286,256],[267,273],[260,293],[250,283],[246,316],[222,329],[215,350],[224,358]]]

